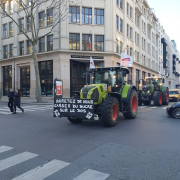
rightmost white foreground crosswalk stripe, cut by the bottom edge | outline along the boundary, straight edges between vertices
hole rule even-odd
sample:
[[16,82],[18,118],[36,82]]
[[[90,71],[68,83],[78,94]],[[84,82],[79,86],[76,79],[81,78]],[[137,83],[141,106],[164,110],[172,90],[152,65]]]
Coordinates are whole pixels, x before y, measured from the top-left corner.
[[105,180],[109,177],[109,174],[105,174],[99,171],[88,169],[84,173],[80,174],[74,180]]

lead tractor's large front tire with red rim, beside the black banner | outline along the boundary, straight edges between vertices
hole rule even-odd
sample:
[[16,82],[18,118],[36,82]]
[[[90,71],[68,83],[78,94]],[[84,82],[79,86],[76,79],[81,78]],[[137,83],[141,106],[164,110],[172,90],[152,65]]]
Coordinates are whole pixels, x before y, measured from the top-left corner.
[[119,102],[115,97],[107,97],[102,103],[102,123],[106,127],[117,124],[119,114]]

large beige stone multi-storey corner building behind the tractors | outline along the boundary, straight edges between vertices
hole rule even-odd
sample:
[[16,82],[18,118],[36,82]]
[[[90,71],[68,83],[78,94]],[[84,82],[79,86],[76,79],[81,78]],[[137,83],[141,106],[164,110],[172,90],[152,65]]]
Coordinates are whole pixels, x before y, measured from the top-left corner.
[[[53,24],[54,9],[42,22],[50,3],[44,0],[37,11],[35,22],[41,34]],[[17,3],[5,0],[3,8],[31,33],[29,20]],[[0,91],[6,96],[8,89],[15,87],[23,96],[36,98],[31,44],[7,16],[0,14],[0,24]],[[138,87],[140,79],[161,74],[171,88],[179,84],[179,53],[146,0],[83,0],[76,6],[69,4],[67,18],[39,40],[37,52],[44,97],[53,97],[55,78],[63,80],[64,97],[72,96],[85,84],[83,74],[89,68],[90,56],[98,67],[119,66],[121,52],[134,59],[128,83]]]

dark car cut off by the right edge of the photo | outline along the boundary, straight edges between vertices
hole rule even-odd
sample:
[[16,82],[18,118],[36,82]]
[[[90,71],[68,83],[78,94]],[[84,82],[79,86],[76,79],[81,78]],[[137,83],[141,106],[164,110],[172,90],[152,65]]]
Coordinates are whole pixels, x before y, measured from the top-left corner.
[[176,119],[180,119],[180,102],[173,103],[166,108],[166,114]]

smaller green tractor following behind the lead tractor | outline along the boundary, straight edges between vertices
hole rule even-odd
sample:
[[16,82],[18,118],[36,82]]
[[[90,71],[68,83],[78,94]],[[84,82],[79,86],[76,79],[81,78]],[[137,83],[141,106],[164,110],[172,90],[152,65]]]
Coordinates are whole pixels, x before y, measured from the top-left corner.
[[169,88],[163,86],[163,83],[165,83],[163,78],[157,76],[146,77],[143,81],[142,91],[138,91],[139,106],[142,104],[150,105],[151,101],[154,101],[155,106],[169,104]]

